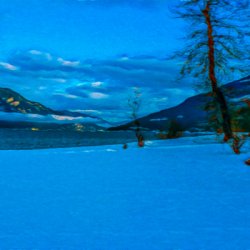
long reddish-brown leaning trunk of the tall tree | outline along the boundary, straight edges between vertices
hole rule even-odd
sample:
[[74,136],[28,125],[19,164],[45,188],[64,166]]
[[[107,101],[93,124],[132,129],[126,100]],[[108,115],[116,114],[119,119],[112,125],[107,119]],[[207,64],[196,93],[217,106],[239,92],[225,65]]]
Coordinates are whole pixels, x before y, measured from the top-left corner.
[[208,60],[209,60],[209,79],[212,86],[212,91],[215,96],[215,100],[219,103],[221,117],[222,117],[222,128],[224,132],[224,139],[233,138],[233,132],[231,127],[231,117],[228,110],[228,105],[223,92],[218,88],[217,79],[215,75],[215,55],[214,55],[214,37],[213,37],[213,26],[210,18],[210,0],[207,1],[205,9],[202,11],[206,18],[207,33],[208,33]]

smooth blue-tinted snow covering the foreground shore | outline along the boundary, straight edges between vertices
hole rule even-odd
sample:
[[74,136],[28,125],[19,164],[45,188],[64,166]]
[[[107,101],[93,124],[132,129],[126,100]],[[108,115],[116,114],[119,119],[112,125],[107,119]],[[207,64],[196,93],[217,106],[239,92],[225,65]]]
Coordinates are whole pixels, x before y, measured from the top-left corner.
[[0,249],[250,249],[249,143],[0,151]]

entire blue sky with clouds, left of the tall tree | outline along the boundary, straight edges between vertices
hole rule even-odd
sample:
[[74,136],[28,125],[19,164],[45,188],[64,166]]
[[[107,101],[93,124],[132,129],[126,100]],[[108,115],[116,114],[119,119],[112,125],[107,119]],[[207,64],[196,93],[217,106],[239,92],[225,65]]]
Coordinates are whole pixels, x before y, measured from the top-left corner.
[[184,40],[178,0],[0,0],[0,85],[57,110],[130,119],[194,95],[167,58]]

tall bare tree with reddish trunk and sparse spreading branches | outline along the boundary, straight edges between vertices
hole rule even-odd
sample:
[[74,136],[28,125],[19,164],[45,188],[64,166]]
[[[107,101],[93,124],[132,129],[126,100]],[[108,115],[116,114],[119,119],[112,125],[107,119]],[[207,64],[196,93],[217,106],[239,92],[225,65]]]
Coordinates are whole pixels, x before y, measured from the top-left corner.
[[210,86],[219,107],[225,141],[235,136],[219,83],[232,73],[240,75],[247,70],[249,6],[249,0],[187,0],[173,10],[189,26],[187,44],[175,54],[175,58],[184,59],[181,75],[198,78]]

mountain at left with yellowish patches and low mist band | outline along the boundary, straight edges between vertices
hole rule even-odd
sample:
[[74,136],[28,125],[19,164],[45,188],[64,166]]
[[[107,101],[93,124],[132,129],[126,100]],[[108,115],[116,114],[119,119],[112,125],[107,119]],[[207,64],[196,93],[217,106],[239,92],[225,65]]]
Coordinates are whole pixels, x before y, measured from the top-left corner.
[[[60,127],[56,125],[58,123],[84,123],[85,125],[90,124],[92,127],[100,127],[95,124],[108,124],[99,117],[80,112],[53,110],[39,102],[30,101],[9,88],[0,88],[0,113],[1,127],[30,127],[38,123],[47,123],[47,125],[40,124],[43,127],[48,127],[48,124],[51,124],[52,128]],[[53,123],[54,125],[52,125]]]

